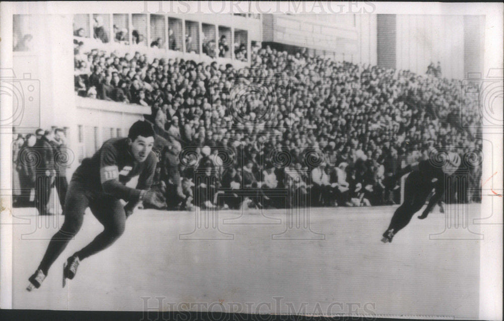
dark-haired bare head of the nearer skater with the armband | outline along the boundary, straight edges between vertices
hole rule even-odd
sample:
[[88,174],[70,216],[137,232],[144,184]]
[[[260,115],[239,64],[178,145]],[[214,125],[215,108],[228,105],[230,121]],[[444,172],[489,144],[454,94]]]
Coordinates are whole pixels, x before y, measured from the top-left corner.
[[135,161],[143,163],[154,146],[154,129],[147,121],[137,121],[128,133],[128,144]]

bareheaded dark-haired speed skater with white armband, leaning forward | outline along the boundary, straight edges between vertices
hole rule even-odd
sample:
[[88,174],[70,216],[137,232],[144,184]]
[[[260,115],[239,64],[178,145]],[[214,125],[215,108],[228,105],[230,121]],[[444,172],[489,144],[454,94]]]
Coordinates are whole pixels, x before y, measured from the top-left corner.
[[[127,138],[112,138],[91,158],[85,158],[75,171],[65,199],[65,222],[54,234],[37,271],[29,278],[31,291],[39,288],[50,266],[79,232],[84,211],[90,208],[104,230],[87,246],[70,256],[63,281],[73,279],[81,260],[112,245],[124,232],[125,221],[140,201],[156,203],[159,195],[150,190],[157,157],[152,151],[154,129],[146,121],[132,125]],[[125,186],[139,176],[136,188]],[[123,207],[119,199],[127,201]]]

